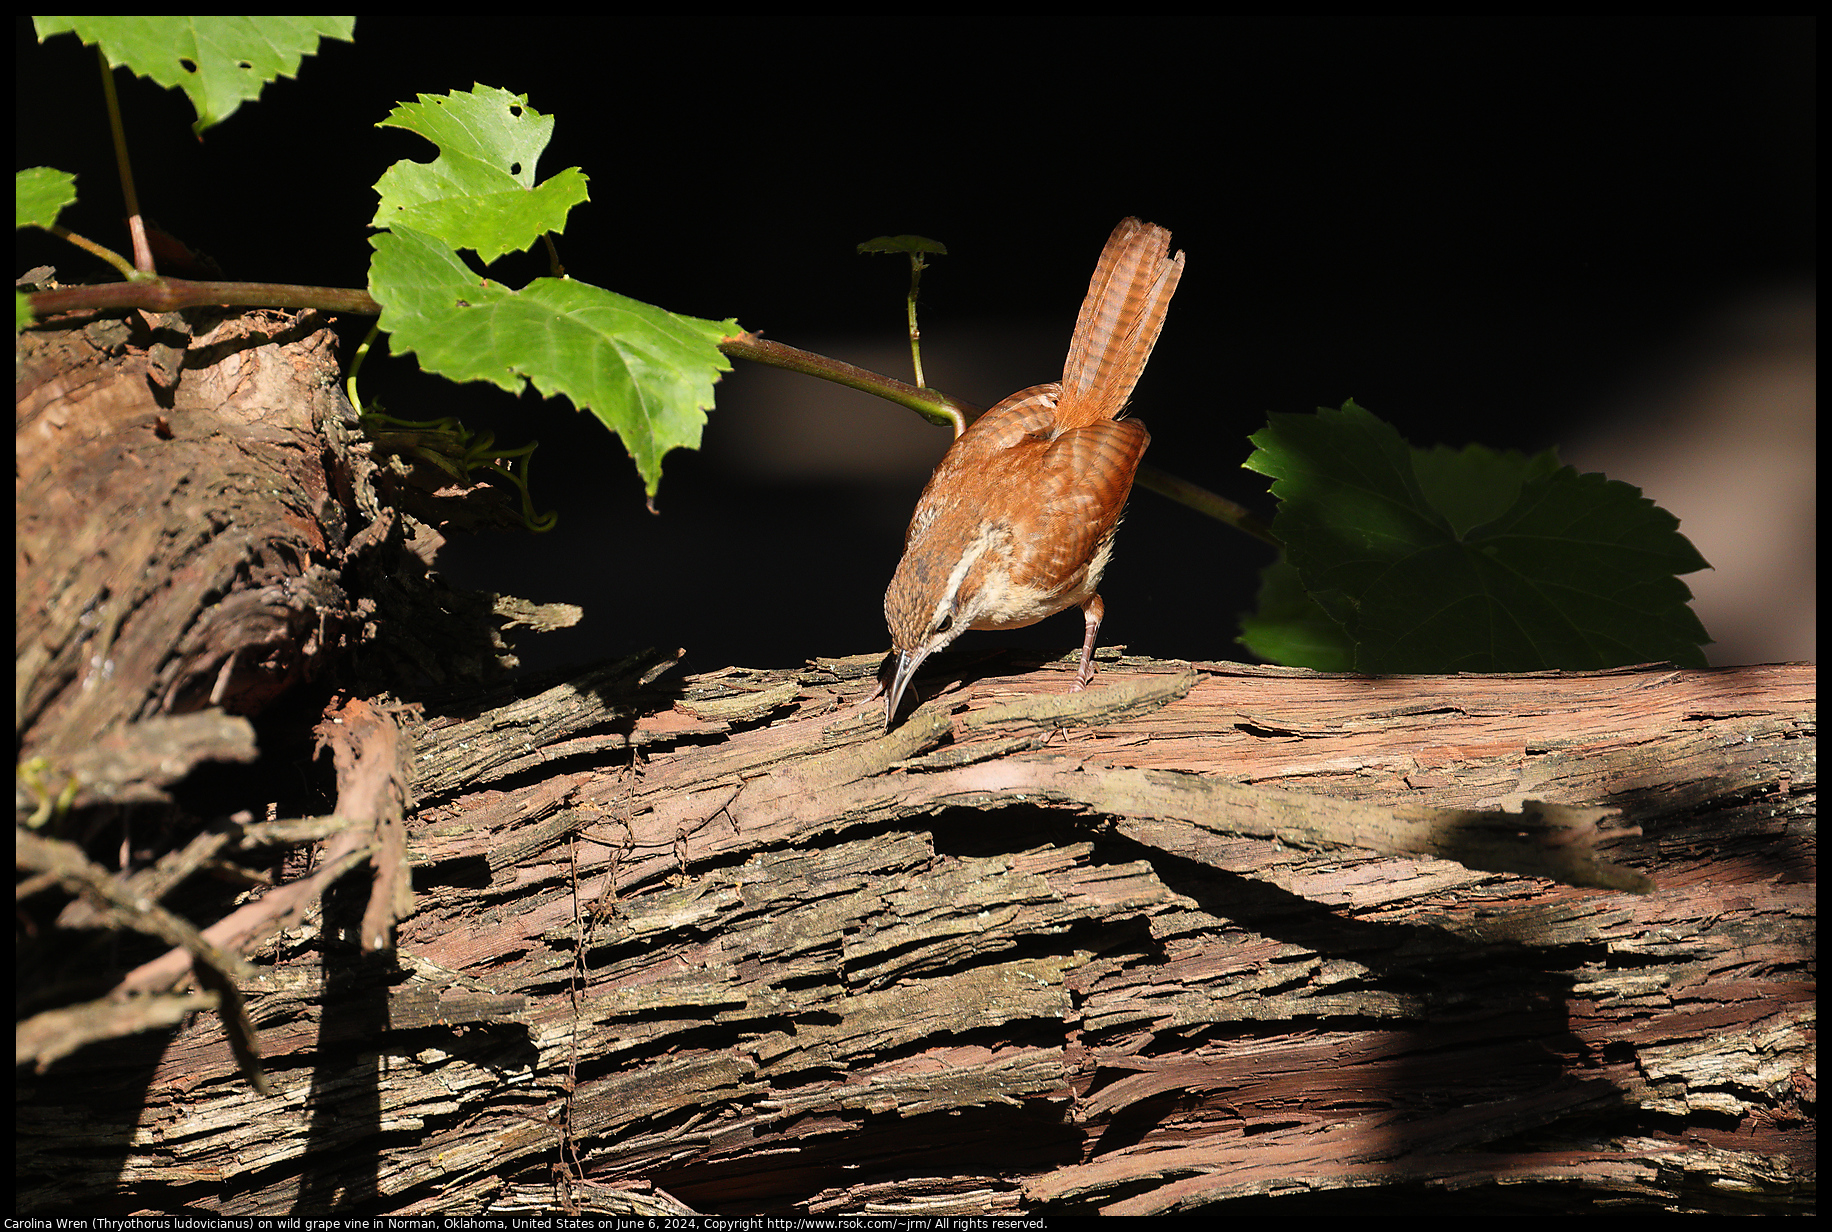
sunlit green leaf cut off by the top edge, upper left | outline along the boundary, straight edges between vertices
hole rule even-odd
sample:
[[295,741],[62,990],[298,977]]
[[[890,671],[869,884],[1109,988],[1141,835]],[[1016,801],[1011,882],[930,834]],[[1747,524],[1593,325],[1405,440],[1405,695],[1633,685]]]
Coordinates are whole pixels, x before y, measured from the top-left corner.
[[297,77],[299,60],[324,38],[350,42],[354,16],[35,16],[38,42],[73,33],[95,44],[108,64],[134,70],[167,90],[183,90],[196,108],[191,130],[203,134],[258,99],[275,77]]

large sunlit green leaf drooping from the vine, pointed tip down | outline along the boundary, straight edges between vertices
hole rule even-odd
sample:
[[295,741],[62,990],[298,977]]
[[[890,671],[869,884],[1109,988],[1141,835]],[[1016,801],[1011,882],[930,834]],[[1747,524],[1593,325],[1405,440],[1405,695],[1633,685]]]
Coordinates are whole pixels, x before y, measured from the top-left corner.
[[731,363],[718,341],[736,321],[702,321],[572,279],[522,290],[476,275],[442,240],[396,226],[370,236],[370,295],[398,352],[454,381],[562,394],[623,438],[654,497],[661,456],[696,447],[713,383]]

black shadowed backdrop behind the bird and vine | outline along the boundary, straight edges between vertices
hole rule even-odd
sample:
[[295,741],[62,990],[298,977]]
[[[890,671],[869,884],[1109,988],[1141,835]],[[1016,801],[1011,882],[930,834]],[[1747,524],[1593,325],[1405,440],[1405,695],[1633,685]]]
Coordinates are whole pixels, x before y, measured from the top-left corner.
[[[561,238],[586,282],[907,378],[907,268],[854,246],[945,242],[923,280],[929,381],[980,405],[1061,372],[1121,216],[1163,224],[1189,264],[1134,400],[1147,460],[1270,512],[1238,469],[1266,412],[1356,398],[1414,444],[1541,449],[1652,402],[1638,433],[1660,436],[1678,433],[1658,405],[1671,372],[1799,334],[1773,304],[1808,304],[1810,348],[1814,35],[1783,18],[361,18],[354,44],[326,44],[202,143],[183,95],[115,79],[143,209],[225,277],[363,286],[368,185],[434,154],[376,123],[484,82],[557,117],[542,176],[590,176]],[[77,172],[64,224],[125,251],[93,51],[38,44],[24,18],[16,44],[18,165]],[[88,271],[48,240],[20,248],[20,270]],[[883,649],[883,587],[947,444],[889,403],[738,365],[652,517],[621,446],[561,403],[453,387],[412,359],[372,365],[365,392],[542,440],[537,502],[561,530],[440,559],[462,585],[586,607],[577,631],[524,642],[531,666],[643,645],[687,647],[700,671]],[[1693,532],[1632,462],[1605,469]],[[1698,546],[1720,574],[1742,556],[1735,535]],[[1103,642],[1244,656],[1235,618],[1264,559],[1136,493]],[[1810,594],[1810,546],[1792,568]],[[1790,614],[1810,629],[1810,607]],[[1079,622],[1002,636],[1066,651]]]

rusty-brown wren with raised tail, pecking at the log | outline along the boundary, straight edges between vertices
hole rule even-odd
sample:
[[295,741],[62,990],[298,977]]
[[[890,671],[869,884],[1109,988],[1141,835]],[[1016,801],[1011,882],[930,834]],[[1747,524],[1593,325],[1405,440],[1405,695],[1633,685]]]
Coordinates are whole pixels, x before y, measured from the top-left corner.
[[1079,607],[1081,671],[1107,607],[1096,588],[1150,433],[1119,412],[1158,343],[1183,273],[1171,233],[1127,218],[1081,301],[1063,381],[1031,385],[973,422],[916,500],[885,590],[896,647],[885,728],[925,658],[967,629],[1020,629]]

